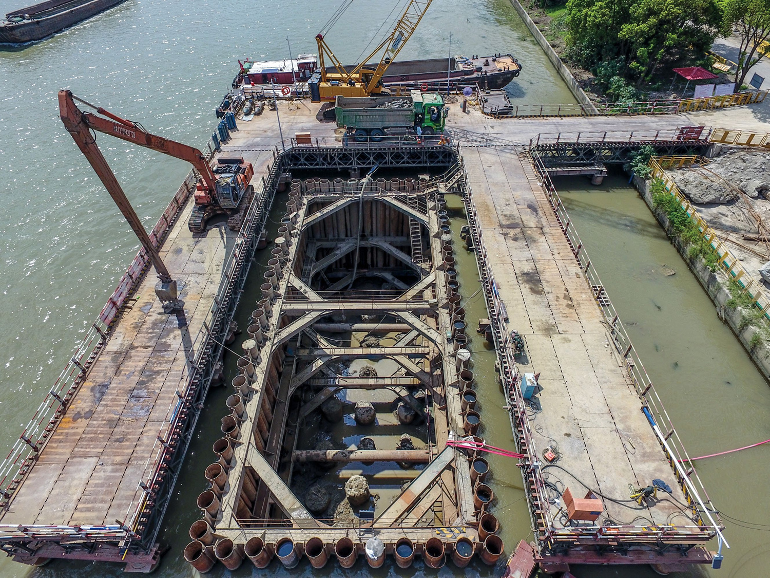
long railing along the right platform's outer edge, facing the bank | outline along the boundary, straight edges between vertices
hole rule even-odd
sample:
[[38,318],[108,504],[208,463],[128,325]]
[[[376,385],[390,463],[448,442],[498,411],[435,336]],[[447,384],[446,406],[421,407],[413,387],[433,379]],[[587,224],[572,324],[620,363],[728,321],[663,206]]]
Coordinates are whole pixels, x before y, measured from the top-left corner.
[[[660,442],[661,447],[664,449],[682,492],[684,492],[688,503],[691,504],[691,507],[694,510],[697,509],[698,503],[701,503],[701,498],[698,494],[699,492],[703,492],[704,496],[706,496],[705,503],[709,504],[711,510],[715,511],[714,506],[711,505],[711,499],[708,498],[708,493],[701,482],[700,476],[698,476],[698,472],[695,471],[695,467],[690,465],[686,472],[681,469],[682,463],[688,462],[691,464],[685,445],[681,442],[679,434],[676,431],[673,422],[671,422],[671,418],[669,417],[668,412],[666,412],[658,392],[655,390],[647,371],[644,369],[641,358],[639,358],[639,355],[634,348],[634,344],[631,342],[631,338],[628,337],[628,334],[620,321],[618,311],[615,310],[607,292],[604,290],[604,284],[602,284],[598,272],[593,264],[591,264],[591,260],[583,247],[583,243],[577,235],[577,230],[575,230],[574,225],[571,223],[567,210],[564,208],[564,204],[561,202],[561,198],[554,187],[554,183],[551,182],[551,177],[548,176],[546,166],[544,166],[537,155],[531,156],[531,160],[538,176],[542,180],[549,203],[551,203],[551,208],[554,210],[554,214],[564,233],[564,237],[567,238],[567,243],[570,245],[575,259],[578,264],[580,264],[583,274],[594,292],[594,298],[604,315],[604,323],[611,335],[614,348],[618,351],[618,355],[620,355],[621,360],[624,362],[628,375],[634,382],[638,394],[645,402],[650,414],[648,416],[648,421],[651,422],[653,431],[656,433],[656,436],[658,436],[658,442]],[[654,422],[651,421],[651,418]],[[665,428],[666,432],[663,435],[658,435],[656,426],[658,426],[658,428]],[[703,520],[704,515],[708,518],[711,516],[711,513],[698,509],[698,516],[701,520],[701,523],[699,524],[701,527],[701,536],[702,529],[708,527],[708,524]],[[718,520],[718,516],[716,514],[715,516],[716,520]],[[713,533],[708,531],[709,537],[713,537],[718,531],[721,531],[721,522],[716,522],[714,526]],[[553,530],[552,527],[549,529],[549,536],[557,539],[560,534],[554,533]],[[574,532],[576,530],[572,531]],[[581,528],[580,532],[582,531],[583,529]]]

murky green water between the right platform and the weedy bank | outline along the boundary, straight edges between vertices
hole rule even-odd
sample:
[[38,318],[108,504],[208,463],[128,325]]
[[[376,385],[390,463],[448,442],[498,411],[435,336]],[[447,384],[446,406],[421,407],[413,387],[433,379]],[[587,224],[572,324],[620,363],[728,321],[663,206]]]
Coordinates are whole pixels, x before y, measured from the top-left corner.
[[[554,185],[689,455],[770,438],[768,384],[627,180]],[[710,576],[768,575],[767,452],[762,446],[697,464],[715,506],[735,520],[723,518],[731,548]]]

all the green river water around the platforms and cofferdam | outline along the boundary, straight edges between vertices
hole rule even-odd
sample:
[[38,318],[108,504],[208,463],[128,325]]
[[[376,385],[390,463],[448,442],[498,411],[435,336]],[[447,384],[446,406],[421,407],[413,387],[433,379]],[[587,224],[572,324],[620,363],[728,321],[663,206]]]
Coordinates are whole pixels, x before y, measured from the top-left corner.
[[[136,253],[135,237],[115,209],[58,117],[56,92],[69,88],[122,116],[139,119],[152,132],[187,143],[203,143],[215,126],[213,109],[235,75],[236,59],[280,59],[315,52],[316,34],[338,2],[192,2],[129,0],[53,39],[23,50],[0,52],[0,178],[4,183],[0,237],[0,449],[9,447],[98,314]],[[0,12],[18,5],[0,0]],[[393,2],[353,2],[327,40],[340,59],[356,59]],[[519,102],[574,102],[507,0],[437,0],[402,58],[447,54],[512,52],[524,65],[509,87]],[[147,227],[155,223],[189,166],[122,141],[100,137],[100,146]],[[627,323],[628,331],[656,382],[691,455],[767,439],[770,390],[745,353],[716,318],[708,297],[651,217],[624,182],[590,187],[581,179],[557,183],[584,243]],[[611,188],[614,186],[615,188]],[[611,193],[608,191],[611,190]],[[452,228],[463,223],[460,200],[450,198]],[[258,262],[266,255],[258,256]],[[485,317],[472,254],[457,252],[468,326]],[[659,273],[661,263],[677,271]],[[261,267],[253,270],[261,279]],[[257,284],[258,285],[258,284]],[[243,298],[240,325],[257,298],[256,286]],[[511,447],[512,436],[494,355],[473,335],[483,435]],[[230,360],[230,365],[233,360]],[[233,368],[229,367],[232,373]],[[229,381],[229,380],[227,380]],[[195,499],[204,489],[203,469],[219,436],[226,388],[214,389],[203,410],[160,538],[172,546],[159,576],[195,573],[181,557],[190,523],[198,518]],[[762,522],[770,511],[760,486],[759,452],[705,461],[698,471],[711,498],[736,519]],[[507,545],[530,538],[521,476],[508,459],[490,459],[491,486]],[[723,570],[713,576],[762,576],[770,561],[766,534],[728,523]],[[284,570],[273,563],[259,571],[248,563],[234,576],[422,576],[419,562],[409,570],[387,565],[371,571],[359,560],[352,570],[330,563],[310,571]],[[490,576],[474,563],[440,576]],[[646,569],[576,569],[576,576],[652,576]],[[51,563],[32,570],[0,561],[0,576],[119,576],[119,566]],[[222,565],[212,576],[231,574]]]

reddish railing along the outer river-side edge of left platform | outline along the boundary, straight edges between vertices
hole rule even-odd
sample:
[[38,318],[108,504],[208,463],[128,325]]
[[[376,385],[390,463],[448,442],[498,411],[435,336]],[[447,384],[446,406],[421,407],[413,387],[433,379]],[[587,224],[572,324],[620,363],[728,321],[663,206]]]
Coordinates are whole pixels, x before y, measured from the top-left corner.
[[[149,237],[156,247],[162,244],[173,223],[176,222],[195,182],[196,177],[190,171],[172,197],[166,210],[161,214],[155,227],[152,227]],[[64,415],[67,405],[99,357],[99,352],[102,351],[109,332],[112,331],[115,321],[119,317],[119,312],[139,287],[148,267],[149,257],[142,248],[132,260],[126,273],[121,277],[115,291],[107,299],[99,317],[86,331],[85,337],[75,349],[59,377],[56,378],[49,393],[43,398],[22,434],[19,435],[8,455],[0,463],[0,495],[2,495],[0,508],[8,506],[8,500],[13,492],[37,461],[39,453],[42,452],[43,447],[49,441]]]

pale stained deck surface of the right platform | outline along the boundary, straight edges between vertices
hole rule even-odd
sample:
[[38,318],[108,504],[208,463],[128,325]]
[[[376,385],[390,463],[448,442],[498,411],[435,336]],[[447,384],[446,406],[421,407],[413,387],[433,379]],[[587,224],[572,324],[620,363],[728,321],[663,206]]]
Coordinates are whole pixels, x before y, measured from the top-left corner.
[[[622,501],[629,483],[648,486],[658,478],[685,501],[528,161],[500,149],[467,147],[462,153],[478,227],[507,308],[507,331],[524,335],[519,371],[541,372],[543,390],[527,410],[537,455],[555,442],[557,465],[571,472],[545,469],[547,481],[580,498],[588,491],[584,482]],[[681,511],[670,500],[649,508],[603,502],[601,519],[634,526],[670,523]],[[555,505],[551,516],[558,519]]]

